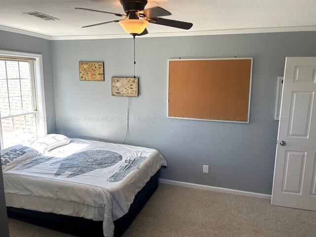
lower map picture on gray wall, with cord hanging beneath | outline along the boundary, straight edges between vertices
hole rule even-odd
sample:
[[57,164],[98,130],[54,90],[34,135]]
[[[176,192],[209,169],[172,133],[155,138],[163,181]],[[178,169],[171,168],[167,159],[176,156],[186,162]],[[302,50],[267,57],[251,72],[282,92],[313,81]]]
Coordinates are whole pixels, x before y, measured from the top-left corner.
[[112,78],[112,95],[138,97],[138,78]]

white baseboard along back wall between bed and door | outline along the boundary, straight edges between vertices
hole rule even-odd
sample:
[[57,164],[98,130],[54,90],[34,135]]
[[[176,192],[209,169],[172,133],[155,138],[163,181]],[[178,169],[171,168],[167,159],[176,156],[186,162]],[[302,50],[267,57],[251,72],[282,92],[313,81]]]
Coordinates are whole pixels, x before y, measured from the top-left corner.
[[193,188],[193,189],[202,189],[202,190],[214,191],[214,192],[219,192],[219,193],[271,199],[271,195],[268,195],[268,194],[258,194],[258,193],[240,191],[240,190],[235,190],[235,189],[226,189],[226,188],[213,187],[213,186],[207,186],[207,185],[201,185],[201,184],[185,183],[185,182],[168,180],[168,179],[159,179],[159,182],[162,184],[169,184],[169,185],[175,185],[175,186],[181,186],[181,187],[187,187],[187,188]]

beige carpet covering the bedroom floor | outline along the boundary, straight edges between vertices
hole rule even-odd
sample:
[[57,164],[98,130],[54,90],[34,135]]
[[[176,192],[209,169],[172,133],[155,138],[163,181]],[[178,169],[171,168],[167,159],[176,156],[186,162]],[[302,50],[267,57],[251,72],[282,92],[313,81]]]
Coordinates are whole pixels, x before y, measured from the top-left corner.
[[[9,220],[10,237],[70,237]],[[316,237],[316,212],[160,184],[124,237]]]

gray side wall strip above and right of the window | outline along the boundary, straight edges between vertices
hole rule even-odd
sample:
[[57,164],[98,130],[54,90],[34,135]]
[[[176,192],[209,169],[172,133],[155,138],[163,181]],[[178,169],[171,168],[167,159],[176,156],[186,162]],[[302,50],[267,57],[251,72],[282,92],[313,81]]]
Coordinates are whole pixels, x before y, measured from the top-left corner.
[[0,50],[41,54],[43,58],[45,103],[48,133],[56,131],[54,82],[51,41],[36,37],[0,31]]

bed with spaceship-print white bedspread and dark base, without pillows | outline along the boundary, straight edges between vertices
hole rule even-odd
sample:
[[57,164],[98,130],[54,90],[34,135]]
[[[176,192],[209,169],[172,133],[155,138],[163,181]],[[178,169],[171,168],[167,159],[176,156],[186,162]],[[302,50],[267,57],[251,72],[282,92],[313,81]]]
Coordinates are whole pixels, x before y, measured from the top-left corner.
[[77,236],[121,236],[166,165],[155,149],[72,139],[3,172],[8,215]]

